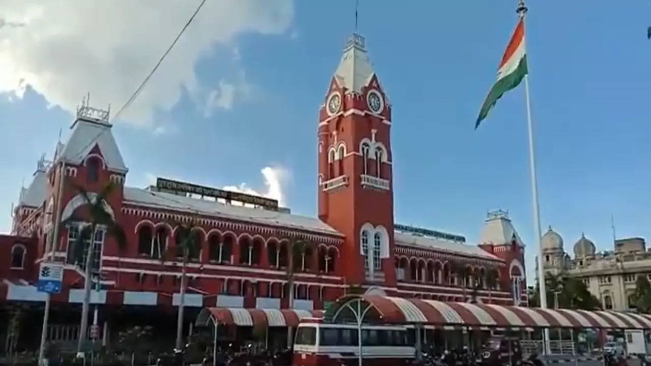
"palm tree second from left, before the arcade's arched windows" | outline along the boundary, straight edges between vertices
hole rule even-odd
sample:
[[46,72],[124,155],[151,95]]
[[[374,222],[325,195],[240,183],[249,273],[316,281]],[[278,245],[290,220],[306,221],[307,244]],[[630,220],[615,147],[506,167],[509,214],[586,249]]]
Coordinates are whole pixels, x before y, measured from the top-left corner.
[[[186,266],[191,258],[199,257],[201,251],[201,242],[197,234],[194,221],[188,224],[175,223],[176,231],[176,246],[174,249],[168,248],[163,255],[161,255],[161,262],[165,262],[168,257],[176,257],[181,259],[181,283],[180,283],[180,299],[178,302],[178,317],[176,318],[176,342],[174,348],[182,350],[183,341],[183,311],[186,304]],[[170,253],[170,249],[174,253]]]

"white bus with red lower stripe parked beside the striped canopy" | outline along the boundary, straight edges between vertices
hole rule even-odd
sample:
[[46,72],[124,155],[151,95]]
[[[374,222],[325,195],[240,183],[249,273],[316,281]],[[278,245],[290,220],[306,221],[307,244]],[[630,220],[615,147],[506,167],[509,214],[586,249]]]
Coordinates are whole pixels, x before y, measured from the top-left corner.
[[[329,324],[303,319],[294,339],[294,366],[357,366],[357,325]],[[363,365],[410,365],[415,357],[413,339],[404,326],[362,326]]]

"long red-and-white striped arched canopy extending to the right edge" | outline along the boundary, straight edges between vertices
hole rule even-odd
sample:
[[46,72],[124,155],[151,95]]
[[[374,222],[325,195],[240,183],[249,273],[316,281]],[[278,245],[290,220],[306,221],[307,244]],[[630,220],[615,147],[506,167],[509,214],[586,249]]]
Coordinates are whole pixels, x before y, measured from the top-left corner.
[[651,329],[651,315],[622,311],[585,311],[440,302],[381,295],[339,298],[326,322],[422,324],[441,328],[611,328]]

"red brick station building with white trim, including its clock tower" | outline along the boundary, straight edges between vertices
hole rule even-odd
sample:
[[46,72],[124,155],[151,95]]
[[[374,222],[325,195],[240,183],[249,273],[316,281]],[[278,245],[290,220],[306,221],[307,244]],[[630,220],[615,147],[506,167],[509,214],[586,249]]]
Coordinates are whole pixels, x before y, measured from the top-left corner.
[[[189,308],[287,308],[294,291],[294,308],[323,309],[351,289],[430,300],[467,301],[473,294],[480,302],[526,302],[524,245],[506,212],[489,215],[478,244],[396,223],[391,102],[361,36],[346,42],[316,122],[318,216],[305,217],[273,206],[125,186],[128,168],[108,111],[80,107],[68,141],[58,144],[51,162],[38,162],[33,182],[21,191],[14,236],[0,236],[0,301],[42,301],[33,282],[38,263],[48,258],[66,263],[64,289],[53,302],[81,302],[83,271],[70,261],[69,245],[85,219],[77,187],[95,197],[114,182],[119,189],[105,203],[126,231],[128,246],[120,251],[102,231],[95,236],[102,280],[92,303],[173,309],[180,262],[160,257],[174,247],[178,221],[194,222],[201,237],[201,253],[187,269]],[[57,225],[72,217],[78,221]],[[288,246],[296,240],[307,245],[294,260],[295,288],[288,289]],[[475,283],[458,278],[462,267],[475,274]],[[499,285],[488,290],[486,272],[493,268]]]

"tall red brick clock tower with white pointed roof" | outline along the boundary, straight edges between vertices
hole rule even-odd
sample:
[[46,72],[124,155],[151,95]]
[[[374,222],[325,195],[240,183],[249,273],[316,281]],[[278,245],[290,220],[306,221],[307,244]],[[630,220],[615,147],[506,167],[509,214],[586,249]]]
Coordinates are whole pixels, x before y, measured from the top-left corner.
[[346,40],[318,120],[319,218],[346,235],[348,285],[395,287],[391,104],[365,39]]

